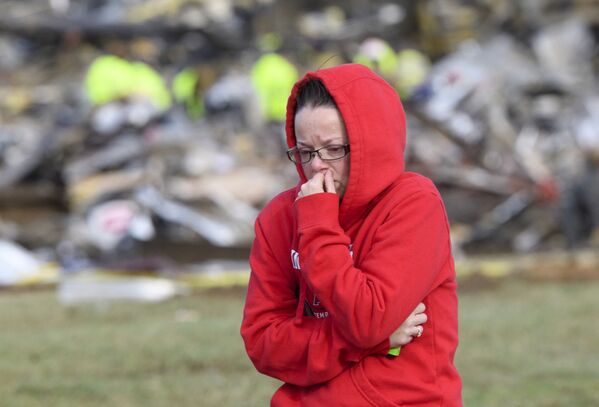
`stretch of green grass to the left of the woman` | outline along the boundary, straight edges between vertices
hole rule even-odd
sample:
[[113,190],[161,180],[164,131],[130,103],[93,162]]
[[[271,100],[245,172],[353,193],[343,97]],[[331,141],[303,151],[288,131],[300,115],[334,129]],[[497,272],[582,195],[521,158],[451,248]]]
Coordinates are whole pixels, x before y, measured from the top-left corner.
[[243,294],[64,308],[0,295],[0,405],[263,406],[276,383],[241,343]]

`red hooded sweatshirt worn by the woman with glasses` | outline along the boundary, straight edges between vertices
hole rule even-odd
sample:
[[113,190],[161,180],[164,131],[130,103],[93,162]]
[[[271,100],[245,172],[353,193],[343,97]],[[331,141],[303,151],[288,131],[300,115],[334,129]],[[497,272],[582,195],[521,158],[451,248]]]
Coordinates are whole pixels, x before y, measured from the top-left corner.
[[[345,122],[345,195],[276,196],[256,220],[241,335],[256,368],[285,382],[271,406],[461,406],[449,229],[432,182],[404,171],[405,114],[395,91],[361,65],[308,73]],[[389,336],[419,302],[424,334],[387,356]]]

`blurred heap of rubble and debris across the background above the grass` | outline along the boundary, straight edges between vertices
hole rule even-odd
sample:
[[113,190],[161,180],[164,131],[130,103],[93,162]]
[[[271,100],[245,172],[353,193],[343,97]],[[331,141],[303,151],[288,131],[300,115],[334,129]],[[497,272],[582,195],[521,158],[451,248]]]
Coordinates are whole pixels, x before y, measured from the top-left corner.
[[[0,239],[46,250],[63,270],[148,247],[168,258],[177,245],[193,264],[244,259],[259,209],[296,182],[282,113],[261,113],[253,64],[280,45],[301,73],[380,38],[391,53],[381,74],[405,96],[408,169],[439,186],[458,256],[595,245],[599,195],[577,194],[598,179],[599,7],[561,3],[10,0]],[[118,93],[116,80],[108,99],[90,98],[86,73],[107,55],[143,62],[168,103]],[[428,75],[414,76],[419,66]],[[581,200],[591,209],[572,220]]]

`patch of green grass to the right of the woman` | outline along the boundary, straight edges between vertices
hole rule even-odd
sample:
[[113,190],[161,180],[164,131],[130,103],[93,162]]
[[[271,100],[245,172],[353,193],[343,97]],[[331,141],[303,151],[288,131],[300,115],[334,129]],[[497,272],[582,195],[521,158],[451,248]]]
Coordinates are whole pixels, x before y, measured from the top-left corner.
[[467,406],[599,406],[599,282],[523,283],[460,296]]

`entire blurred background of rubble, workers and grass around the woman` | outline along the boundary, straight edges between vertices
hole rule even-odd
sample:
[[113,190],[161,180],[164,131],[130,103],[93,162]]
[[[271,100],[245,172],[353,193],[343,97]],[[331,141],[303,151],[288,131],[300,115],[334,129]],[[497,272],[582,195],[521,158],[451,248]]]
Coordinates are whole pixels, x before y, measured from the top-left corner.
[[356,62],[445,200],[466,405],[599,405],[597,1],[0,5],[0,404],[267,405],[253,221],[292,84]]

